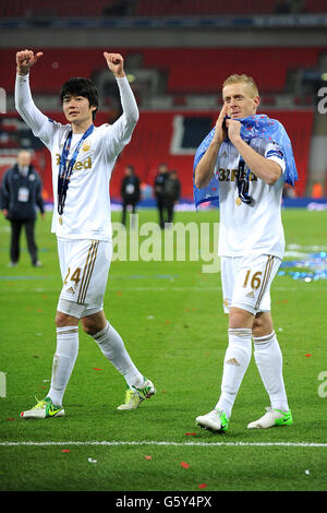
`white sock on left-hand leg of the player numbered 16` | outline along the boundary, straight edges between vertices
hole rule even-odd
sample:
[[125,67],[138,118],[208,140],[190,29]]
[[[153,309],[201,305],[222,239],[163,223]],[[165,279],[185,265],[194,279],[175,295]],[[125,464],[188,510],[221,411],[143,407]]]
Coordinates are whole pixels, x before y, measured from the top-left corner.
[[251,360],[251,329],[228,330],[229,345],[223,360],[221,394],[216,405],[216,409],[222,409],[227,418],[231,416],[234,401]]

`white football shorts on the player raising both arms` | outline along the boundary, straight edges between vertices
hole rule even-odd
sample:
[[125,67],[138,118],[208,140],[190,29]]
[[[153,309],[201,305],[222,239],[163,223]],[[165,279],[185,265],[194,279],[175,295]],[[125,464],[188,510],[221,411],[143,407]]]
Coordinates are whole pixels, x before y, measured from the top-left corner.
[[62,289],[57,309],[81,319],[98,313],[112,258],[112,243],[105,240],[58,238]]

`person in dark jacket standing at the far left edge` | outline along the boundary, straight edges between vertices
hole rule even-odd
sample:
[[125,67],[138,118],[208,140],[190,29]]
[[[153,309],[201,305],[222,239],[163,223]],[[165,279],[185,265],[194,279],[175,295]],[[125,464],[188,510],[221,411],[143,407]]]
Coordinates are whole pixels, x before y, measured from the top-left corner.
[[17,155],[17,163],[3,176],[0,190],[0,207],[11,224],[10,266],[20,260],[20,239],[25,227],[27,249],[34,266],[41,266],[37,258],[35,242],[36,205],[44,217],[45,208],[41,196],[41,180],[31,164],[29,152],[23,150]]

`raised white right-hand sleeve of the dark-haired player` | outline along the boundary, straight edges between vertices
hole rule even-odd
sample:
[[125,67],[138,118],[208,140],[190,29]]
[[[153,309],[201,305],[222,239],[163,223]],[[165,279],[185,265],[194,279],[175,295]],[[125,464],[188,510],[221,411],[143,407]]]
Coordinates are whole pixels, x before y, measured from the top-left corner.
[[131,141],[133,130],[138,121],[138,108],[128,79],[123,76],[116,80],[123,114],[110,127],[108,136],[110,138],[109,150],[113,150],[118,155]]

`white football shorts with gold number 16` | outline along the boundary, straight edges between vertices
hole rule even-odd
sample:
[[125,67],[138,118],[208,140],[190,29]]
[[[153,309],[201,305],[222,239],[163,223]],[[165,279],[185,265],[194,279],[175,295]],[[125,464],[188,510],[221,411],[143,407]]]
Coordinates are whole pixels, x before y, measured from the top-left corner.
[[221,256],[223,311],[238,307],[254,315],[270,311],[270,286],[281,260],[271,254]]

